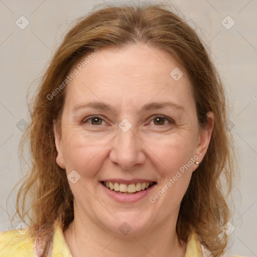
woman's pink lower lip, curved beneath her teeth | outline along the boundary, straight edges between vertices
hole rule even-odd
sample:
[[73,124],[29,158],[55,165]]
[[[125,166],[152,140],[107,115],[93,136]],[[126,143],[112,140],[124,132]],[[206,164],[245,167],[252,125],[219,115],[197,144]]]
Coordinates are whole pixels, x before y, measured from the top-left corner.
[[119,193],[116,193],[115,191],[108,189],[102,183],[100,183],[100,185],[104,190],[104,192],[107,195],[109,195],[112,199],[116,200],[117,202],[134,203],[146,197],[157,184],[152,185],[147,190],[141,190],[139,192],[136,192],[135,194],[119,194]]

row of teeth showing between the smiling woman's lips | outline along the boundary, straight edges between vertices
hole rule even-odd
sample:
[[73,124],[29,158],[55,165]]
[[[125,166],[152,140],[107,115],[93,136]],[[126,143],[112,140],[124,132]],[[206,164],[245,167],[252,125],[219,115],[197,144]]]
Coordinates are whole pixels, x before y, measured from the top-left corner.
[[137,194],[141,191],[146,191],[155,184],[156,182],[143,182],[143,183],[131,183],[131,184],[124,184],[124,183],[117,183],[112,181],[100,181],[106,188],[111,191],[114,191],[118,194]]

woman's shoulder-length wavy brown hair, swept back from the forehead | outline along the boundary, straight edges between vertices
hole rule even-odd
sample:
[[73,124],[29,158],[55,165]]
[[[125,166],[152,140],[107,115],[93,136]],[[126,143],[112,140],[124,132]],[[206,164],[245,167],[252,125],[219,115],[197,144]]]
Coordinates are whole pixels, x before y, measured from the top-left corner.
[[[221,227],[231,217],[226,196],[231,192],[233,179],[232,141],[225,127],[225,93],[196,32],[167,5],[104,6],[80,18],[66,34],[42,77],[30,110],[31,123],[21,141],[21,150],[29,143],[31,166],[18,193],[17,213],[29,220],[33,236],[41,225],[47,224],[48,229],[41,231],[47,239],[46,252],[54,222],[59,219],[65,230],[73,220],[73,195],[65,171],[56,164],[53,132],[54,121],[60,131],[66,87],[54,96],[53,92],[82,57],[104,47],[136,43],[166,51],[185,69],[192,84],[199,126],[204,129],[206,113],[214,113],[209,148],[193,172],[181,202],[176,230],[178,237],[186,241],[190,227],[194,227],[201,243],[214,256],[220,256],[227,245],[227,235]],[[221,180],[227,195],[222,191]]]

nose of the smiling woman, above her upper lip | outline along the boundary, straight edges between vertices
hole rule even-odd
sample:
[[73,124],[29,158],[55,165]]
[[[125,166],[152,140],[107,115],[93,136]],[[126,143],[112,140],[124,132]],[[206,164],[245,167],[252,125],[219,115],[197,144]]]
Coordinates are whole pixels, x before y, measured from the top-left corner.
[[119,165],[121,169],[131,170],[136,164],[145,163],[145,147],[132,127],[126,132],[118,128],[117,135],[112,141],[109,159],[112,163]]

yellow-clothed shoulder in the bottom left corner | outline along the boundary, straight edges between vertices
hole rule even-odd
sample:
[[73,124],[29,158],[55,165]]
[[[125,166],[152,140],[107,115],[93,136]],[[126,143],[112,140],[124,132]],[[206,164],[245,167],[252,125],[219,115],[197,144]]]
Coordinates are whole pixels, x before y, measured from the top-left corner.
[[35,256],[29,228],[0,232],[0,256]]

